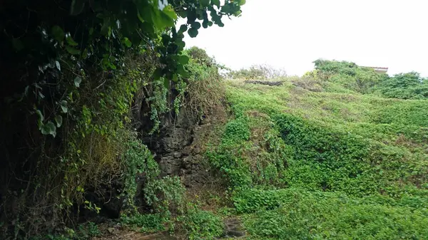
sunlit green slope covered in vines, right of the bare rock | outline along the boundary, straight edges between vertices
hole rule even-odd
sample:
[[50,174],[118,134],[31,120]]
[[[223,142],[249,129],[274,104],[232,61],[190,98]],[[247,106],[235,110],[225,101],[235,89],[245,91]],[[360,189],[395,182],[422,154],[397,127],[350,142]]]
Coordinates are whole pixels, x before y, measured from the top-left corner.
[[428,239],[428,100],[228,83],[210,152],[250,239]]

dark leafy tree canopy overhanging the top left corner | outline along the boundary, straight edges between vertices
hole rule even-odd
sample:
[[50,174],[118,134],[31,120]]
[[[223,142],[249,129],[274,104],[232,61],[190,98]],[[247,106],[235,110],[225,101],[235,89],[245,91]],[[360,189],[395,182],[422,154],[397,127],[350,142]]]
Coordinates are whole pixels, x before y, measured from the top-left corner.
[[[31,55],[42,65],[66,52],[114,70],[123,49],[144,44],[161,55],[163,68],[157,77],[176,79],[175,74],[185,74],[183,64],[188,61],[180,55],[184,33],[195,37],[201,27],[224,26],[222,18],[239,16],[243,4],[245,0],[4,1],[2,58]],[[178,17],[187,23],[175,28]]]

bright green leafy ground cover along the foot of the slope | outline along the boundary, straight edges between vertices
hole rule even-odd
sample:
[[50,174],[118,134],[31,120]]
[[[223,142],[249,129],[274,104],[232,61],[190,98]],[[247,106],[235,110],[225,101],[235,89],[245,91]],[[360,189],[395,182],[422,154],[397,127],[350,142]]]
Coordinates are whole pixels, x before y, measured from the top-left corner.
[[[240,202],[245,201],[245,202]],[[248,231],[260,239],[425,239],[427,209],[389,206],[305,189],[248,190],[237,197]],[[391,201],[392,202],[392,201]]]

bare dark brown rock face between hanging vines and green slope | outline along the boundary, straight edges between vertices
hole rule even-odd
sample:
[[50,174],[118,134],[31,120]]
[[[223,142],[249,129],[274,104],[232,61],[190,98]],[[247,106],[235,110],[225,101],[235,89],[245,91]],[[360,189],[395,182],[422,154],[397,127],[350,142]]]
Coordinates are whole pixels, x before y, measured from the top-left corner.
[[161,167],[162,176],[179,176],[186,187],[200,187],[213,180],[203,152],[215,115],[200,116],[183,108],[178,115],[163,116],[157,134],[142,137]]

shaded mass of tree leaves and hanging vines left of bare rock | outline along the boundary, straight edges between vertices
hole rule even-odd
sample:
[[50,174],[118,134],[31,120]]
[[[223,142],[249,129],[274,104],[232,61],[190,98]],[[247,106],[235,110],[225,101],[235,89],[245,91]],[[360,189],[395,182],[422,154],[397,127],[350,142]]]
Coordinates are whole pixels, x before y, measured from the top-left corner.
[[[224,26],[243,4],[2,2],[0,235],[27,239],[73,227],[108,215],[103,205],[113,201],[116,214],[135,212],[138,200],[174,217],[183,187],[158,179],[134,131],[143,125],[141,134],[156,134],[163,115],[185,103],[197,114],[216,106],[201,96],[220,99],[218,66],[183,53],[184,34]],[[178,17],[185,24],[175,26]],[[141,105],[148,110],[139,119]],[[136,174],[144,176],[143,199],[135,199]]]

